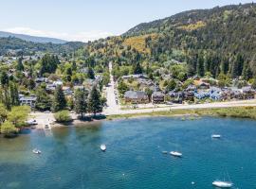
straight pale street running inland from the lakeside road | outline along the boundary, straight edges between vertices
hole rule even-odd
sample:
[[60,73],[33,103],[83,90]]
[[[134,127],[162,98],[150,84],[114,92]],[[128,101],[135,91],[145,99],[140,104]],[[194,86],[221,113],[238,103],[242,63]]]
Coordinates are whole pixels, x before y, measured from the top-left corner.
[[[104,114],[119,114],[120,106],[116,102],[115,96],[115,81],[112,76],[112,62],[109,62],[109,73],[110,73],[110,83],[106,87],[106,98],[107,98],[107,108],[103,111]],[[118,92],[117,92],[118,93]]]

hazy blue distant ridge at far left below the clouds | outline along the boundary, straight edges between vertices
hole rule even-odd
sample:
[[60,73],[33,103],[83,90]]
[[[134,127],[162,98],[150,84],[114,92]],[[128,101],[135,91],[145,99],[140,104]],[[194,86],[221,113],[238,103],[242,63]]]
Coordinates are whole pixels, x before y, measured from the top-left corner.
[[15,37],[15,38],[18,38],[27,42],[33,42],[33,43],[56,43],[56,44],[66,43],[66,41],[56,39],[56,38],[36,37],[36,36],[30,36],[25,34],[16,34],[16,33],[0,31],[0,38],[8,38],[8,37]]

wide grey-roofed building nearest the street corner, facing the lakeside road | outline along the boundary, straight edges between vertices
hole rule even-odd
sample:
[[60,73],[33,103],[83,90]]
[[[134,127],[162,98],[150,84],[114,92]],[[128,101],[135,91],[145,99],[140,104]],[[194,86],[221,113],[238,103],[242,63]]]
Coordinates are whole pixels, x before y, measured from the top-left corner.
[[148,103],[149,97],[144,92],[135,92],[135,91],[127,91],[124,94],[125,102],[131,102],[131,103]]

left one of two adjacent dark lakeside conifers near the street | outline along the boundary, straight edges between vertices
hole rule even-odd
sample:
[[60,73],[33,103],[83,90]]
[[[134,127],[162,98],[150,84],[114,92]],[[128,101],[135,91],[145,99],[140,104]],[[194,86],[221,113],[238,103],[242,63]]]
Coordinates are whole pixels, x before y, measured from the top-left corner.
[[83,113],[87,112],[87,94],[84,89],[78,89],[75,92],[75,112],[81,114],[83,118]]

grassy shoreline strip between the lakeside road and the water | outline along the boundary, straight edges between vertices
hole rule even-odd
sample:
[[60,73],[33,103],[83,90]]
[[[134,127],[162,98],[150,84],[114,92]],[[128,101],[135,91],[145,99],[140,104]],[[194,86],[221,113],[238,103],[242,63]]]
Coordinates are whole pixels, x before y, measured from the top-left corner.
[[[44,112],[36,112],[41,114]],[[44,114],[47,120],[50,120],[48,117],[53,116],[53,113]],[[48,115],[48,116],[46,116]],[[174,109],[169,111],[155,111],[155,112],[137,112],[137,113],[127,113],[127,114],[112,114],[105,115],[101,119],[92,119],[80,120],[72,114],[73,121],[68,123],[57,123],[55,120],[51,121],[51,128],[61,128],[67,126],[88,126],[96,123],[101,123],[102,121],[116,121],[116,120],[125,120],[130,118],[147,118],[147,117],[182,117],[185,120],[194,120],[202,116],[216,116],[216,117],[234,117],[234,118],[249,118],[256,120],[256,107],[255,106],[241,106],[241,107],[228,107],[228,108],[205,108],[205,109]],[[38,120],[35,117],[36,120]],[[44,129],[44,123],[42,120],[38,124],[36,129]]]

